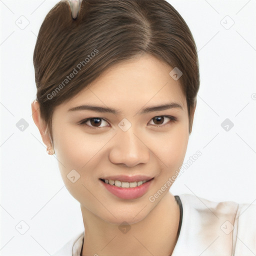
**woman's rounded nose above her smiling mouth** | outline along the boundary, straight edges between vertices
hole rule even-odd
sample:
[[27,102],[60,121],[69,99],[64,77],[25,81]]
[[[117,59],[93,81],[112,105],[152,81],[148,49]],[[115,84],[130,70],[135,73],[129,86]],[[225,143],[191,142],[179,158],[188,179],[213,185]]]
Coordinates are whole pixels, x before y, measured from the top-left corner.
[[139,163],[147,163],[149,158],[150,150],[145,136],[135,134],[132,126],[126,131],[117,130],[109,152],[109,160],[112,163],[132,167]]

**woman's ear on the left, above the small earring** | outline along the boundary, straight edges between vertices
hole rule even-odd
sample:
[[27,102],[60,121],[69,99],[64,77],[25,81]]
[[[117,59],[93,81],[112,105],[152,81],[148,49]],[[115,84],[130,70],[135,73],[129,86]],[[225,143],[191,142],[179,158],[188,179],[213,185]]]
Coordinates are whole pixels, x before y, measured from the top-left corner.
[[37,128],[39,129],[39,132],[42,137],[42,141],[46,145],[46,147],[48,147],[51,145],[51,140],[50,140],[49,134],[46,133],[45,122],[41,119],[40,106],[39,106],[39,103],[37,100],[34,100],[31,103],[31,110],[32,110],[33,121],[34,121],[35,125],[37,126]]

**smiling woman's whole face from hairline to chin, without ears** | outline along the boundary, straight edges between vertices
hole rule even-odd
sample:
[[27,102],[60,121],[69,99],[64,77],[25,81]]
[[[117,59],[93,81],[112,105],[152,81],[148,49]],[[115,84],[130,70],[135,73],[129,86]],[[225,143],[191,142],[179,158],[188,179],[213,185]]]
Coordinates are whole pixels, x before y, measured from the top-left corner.
[[[188,112],[171,70],[150,55],[136,57],[111,67],[53,112],[52,137],[64,184],[81,207],[107,222],[145,218],[171,184],[154,194],[182,165]],[[170,107],[152,109],[166,104]],[[112,111],[74,108],[82,105]],[[121,182],[110,185],[109,180]],[[141,187],[134,182],[141,180],[150,181]]]

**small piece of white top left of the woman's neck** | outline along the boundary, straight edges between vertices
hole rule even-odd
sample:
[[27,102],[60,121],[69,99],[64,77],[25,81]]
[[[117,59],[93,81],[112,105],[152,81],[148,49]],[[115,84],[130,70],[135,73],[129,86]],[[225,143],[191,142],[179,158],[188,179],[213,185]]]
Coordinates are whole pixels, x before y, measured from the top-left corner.
[[80,256],[83,236],[84,231],[78,233],[59,250],[53,253],[52,256]]

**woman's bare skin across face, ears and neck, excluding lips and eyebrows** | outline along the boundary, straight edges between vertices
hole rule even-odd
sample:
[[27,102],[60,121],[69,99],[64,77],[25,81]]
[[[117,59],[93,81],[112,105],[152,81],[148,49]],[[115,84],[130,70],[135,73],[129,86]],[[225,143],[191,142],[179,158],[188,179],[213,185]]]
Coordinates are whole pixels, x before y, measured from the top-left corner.
[[[137,56],[109,68],[54,109],[52,136],[59,170],[66,188],[81,207],[85,229],[82,255],[166,256],[173,251],[179,207],[168,191],[170,186],[153,202],[148,199],[182,165],[188,143],[186,98],[178,80],[170,77],[171,69],[151,55]],[[169,102],[180,104],[182,109],[136,114],[144,107]],[[121,113],[68,111],[82,104],[111,107]],[[44,134],[38,102],[33,101],[31,107],[33,120],[48,146],[50,138]],[[194,110],[195,107],[191,120]],[[176,121],[164,115],[174,116]],[[157,121],[155,116],[162,119]],[[102,118],[101,122],[78,124],[93,117]],[[126,131],[118,127],[123,118],[131,123]],[[67,178],[72,169],[80,174],[74,183]],[[99,180],[117,174],[145,174],[154,179],[141,197],[121,199]],[[118,228],[123,221],[129,223],[127,233]]]

